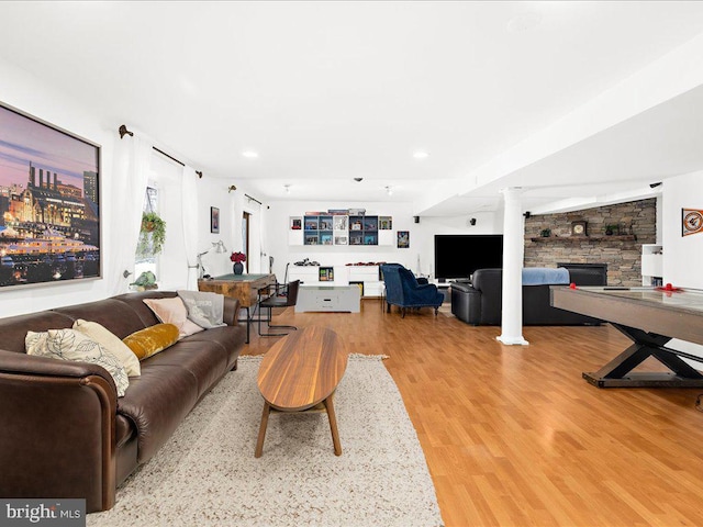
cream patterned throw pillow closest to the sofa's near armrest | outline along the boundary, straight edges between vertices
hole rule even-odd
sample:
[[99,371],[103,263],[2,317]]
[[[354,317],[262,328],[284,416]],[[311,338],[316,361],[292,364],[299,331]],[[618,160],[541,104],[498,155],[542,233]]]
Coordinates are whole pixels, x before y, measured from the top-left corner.
[[118,389],[118,397],[124,396],[130,385],[130,378],[120,359],[76,329],[27,332],[24,347],[27,355],[101,366],[112,375]]

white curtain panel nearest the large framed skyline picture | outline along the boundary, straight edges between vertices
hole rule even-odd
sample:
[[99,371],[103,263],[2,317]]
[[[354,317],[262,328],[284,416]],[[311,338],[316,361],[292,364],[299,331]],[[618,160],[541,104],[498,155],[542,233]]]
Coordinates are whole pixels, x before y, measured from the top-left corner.
[[[113,210],[111,232],[119,244],[112,245],[109,278],[110,291],[114,294],[125,293],[134,276],[134,254],[140,239],[144,194],[148,182],[152,164],[153,145],[136,134],[125,135],[115,142]],[[125,271],[130,274],[125,277]]]

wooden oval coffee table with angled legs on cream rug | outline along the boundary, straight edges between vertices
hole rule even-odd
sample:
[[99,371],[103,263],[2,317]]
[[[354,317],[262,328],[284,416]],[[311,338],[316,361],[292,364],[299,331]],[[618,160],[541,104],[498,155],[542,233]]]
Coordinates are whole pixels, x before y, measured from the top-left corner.
[[257,378],[264,412],[254,457],[261,457],[271,412],[326,412],[334,453],[342,445],[334,413],[334,392],[347,368],[346,346],[336,333],[306,327],[286,336],[268,350]]

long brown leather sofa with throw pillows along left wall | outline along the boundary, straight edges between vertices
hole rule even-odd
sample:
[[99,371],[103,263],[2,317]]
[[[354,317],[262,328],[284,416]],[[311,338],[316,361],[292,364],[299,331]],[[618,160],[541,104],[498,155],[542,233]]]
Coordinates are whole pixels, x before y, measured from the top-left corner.
[[147,291],[0,318],[0,496],[86,498],[87,512],[114,505],[116,487],[168,440],[183,417],[227,373],[246,340],[239,304],[224,300],[223,327],[182,338],[141,362],[118,399],[100,366],[27,356],[27,330],[94,321],[118,337],[159,321]]

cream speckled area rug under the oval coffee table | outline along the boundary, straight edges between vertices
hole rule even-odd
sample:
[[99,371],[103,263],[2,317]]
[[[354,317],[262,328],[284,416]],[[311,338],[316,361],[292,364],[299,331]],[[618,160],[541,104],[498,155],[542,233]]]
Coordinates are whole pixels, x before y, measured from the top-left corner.
[[271,414],[260,357],[241,357],[159,452],[88,526],[434,527],[443,520],[415,429],[382,356],[349,357],[335,394],[342,456],[327,415]]

